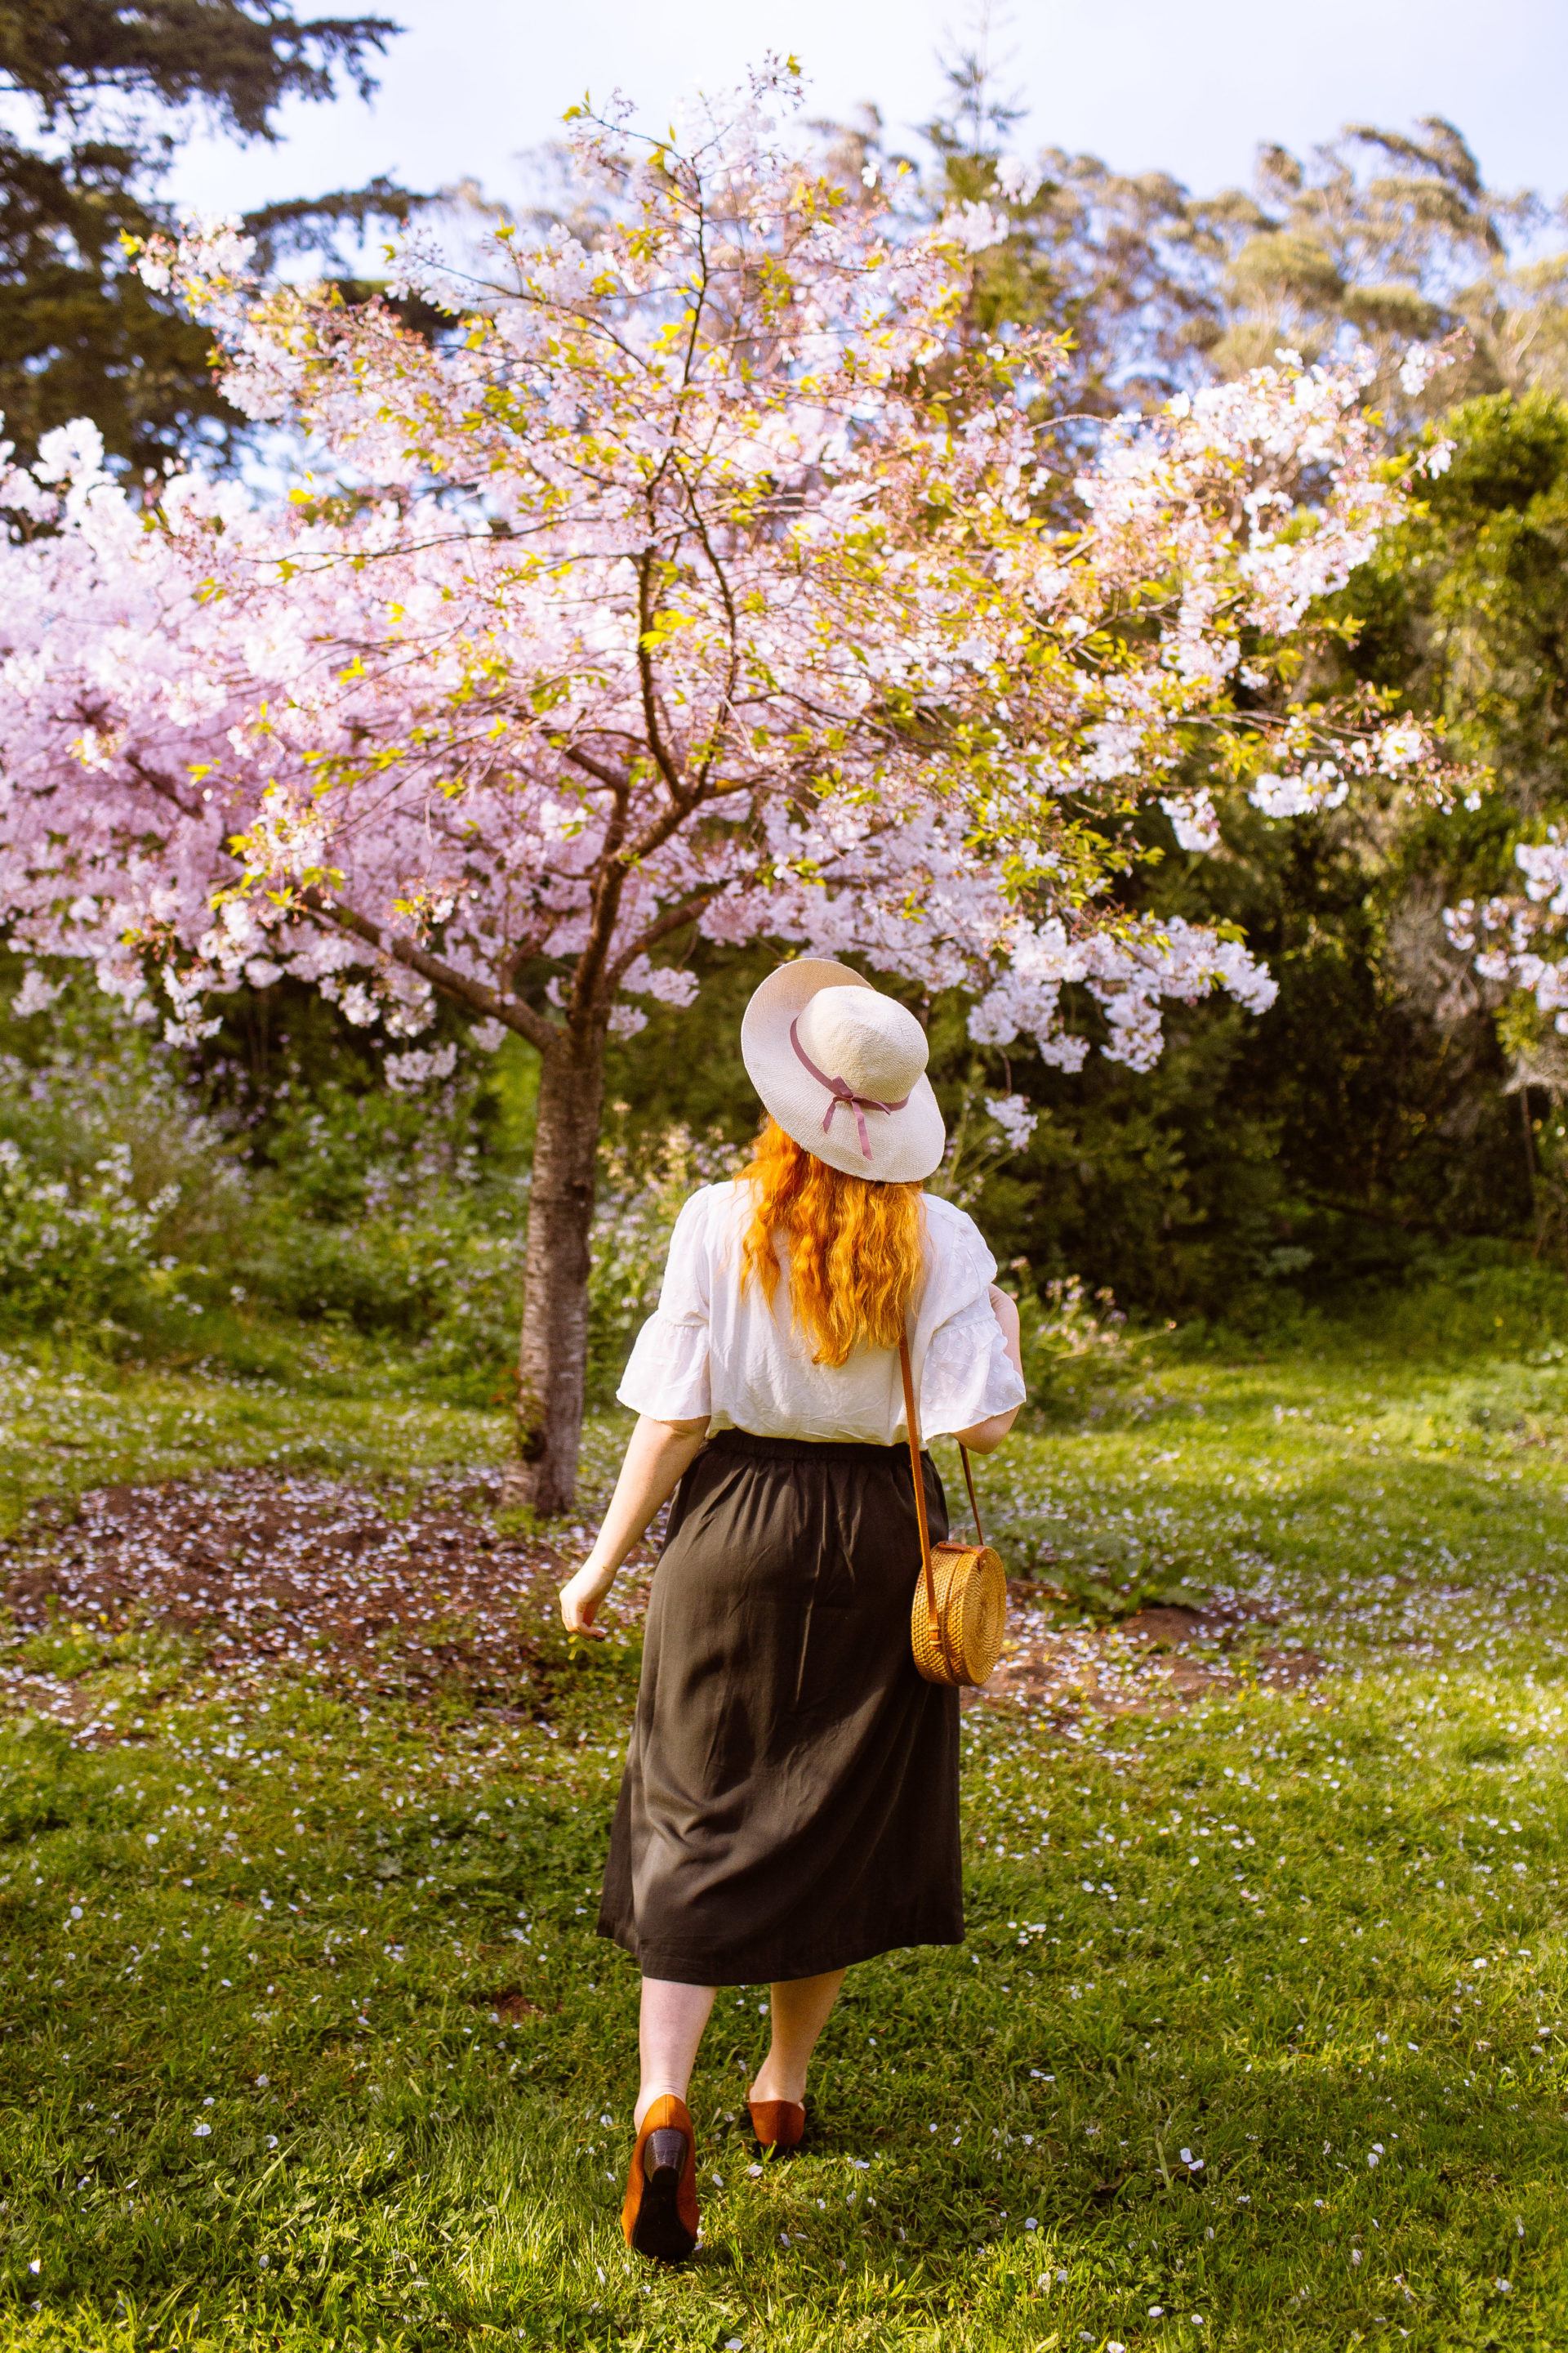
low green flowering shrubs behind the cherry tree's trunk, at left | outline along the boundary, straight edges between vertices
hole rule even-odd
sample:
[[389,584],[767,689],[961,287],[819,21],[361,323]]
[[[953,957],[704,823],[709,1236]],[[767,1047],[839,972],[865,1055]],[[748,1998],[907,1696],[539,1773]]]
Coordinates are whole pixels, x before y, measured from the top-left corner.
[[[19,967],[12,967],[19,969]],[[0,974],[0,1327],[80,1332],[254,1374],[268,1320],[355,1334],[388,1369],[461,1402],[505,1393],[522,1315],[531,1056],[468,1059],[397,1094],[315,1005],[301,1035],[174,1054],[85,976],[45,1014],[5,1014]],[[235,1019],[237,1016],[237,1019]],[[268,1021],[275,1014],[268,1007]],[[336,1019],[336,1016],[334,1016]],[[590,1280],[590,1386],[614,1391],[658,1297],[693,1186],[736,1160],[611,1108]]]

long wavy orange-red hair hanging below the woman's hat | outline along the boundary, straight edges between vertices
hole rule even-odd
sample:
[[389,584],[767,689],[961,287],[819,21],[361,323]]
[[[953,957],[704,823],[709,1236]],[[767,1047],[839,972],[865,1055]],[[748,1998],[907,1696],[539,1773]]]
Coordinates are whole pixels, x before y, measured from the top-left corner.
[[922,1275],[922,1188],[846,1176],[773,1118],[764,1120],[741,1179],[752,1186],[743,1287],[757,1280],[773,1304],[783,1242],[790,1306],[818,1365],[842,1365],[858,1341],[896,1348]]

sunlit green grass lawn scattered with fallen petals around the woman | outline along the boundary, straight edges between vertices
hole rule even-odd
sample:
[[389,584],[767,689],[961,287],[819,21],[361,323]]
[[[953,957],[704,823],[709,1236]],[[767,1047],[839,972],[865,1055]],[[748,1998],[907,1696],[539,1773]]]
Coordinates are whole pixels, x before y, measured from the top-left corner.
[[[1472,1308],[1164,1344],[987,1466],[1058,1621],[1227,1588],[1324,1673],[969,1711],[969,1946],[853,1972],[783,2165],[743,2132],[762,1993],[719,1995],[679,2273],[621,2245],[635,1972],[590,1932],[635,1624],[578,1652],[520,1588],[529,1668],[477,1704],[33,1609],[0,2346],[1568,2344],[1568,1369]],[[503,1438],[21,1358],[0,1421],[12,1525],[56,1499],[35,1579],[82,1487],[306,1466],[411,1508]]]

